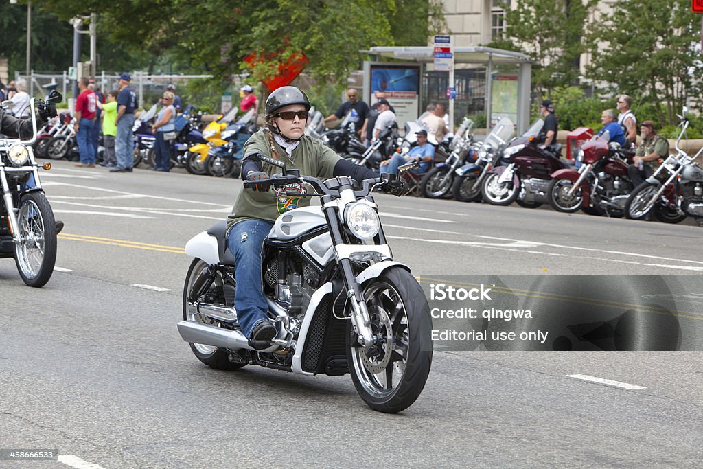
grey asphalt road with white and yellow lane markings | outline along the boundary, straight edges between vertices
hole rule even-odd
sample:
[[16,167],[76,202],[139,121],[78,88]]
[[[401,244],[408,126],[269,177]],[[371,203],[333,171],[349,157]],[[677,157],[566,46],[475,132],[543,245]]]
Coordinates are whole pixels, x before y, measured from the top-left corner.
[[[63,161],[42,181],[65,229],[44,288],[24,286],[13,261],[0,260],[0,449],[58,449],[63,462],[0,468],[689,468],[703,460],[702,354],[692,350],[436,349],[423,394],[398,415],[368,409],[348,375],[213,371],[176,330],[191,262],[183,246],[226,217],[241,182]],[[669,300],[686,313],[682,327],[702,329],[703,229],[693,224],[377,201],[396,260],[420,278],[676,276],[684,288]]]

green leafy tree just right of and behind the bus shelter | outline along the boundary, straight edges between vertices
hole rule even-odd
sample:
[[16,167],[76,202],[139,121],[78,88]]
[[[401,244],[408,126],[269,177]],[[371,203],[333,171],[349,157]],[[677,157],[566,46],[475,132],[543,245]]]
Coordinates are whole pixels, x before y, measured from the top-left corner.
[[586,51],[584,25],[598,0],[517,0],[505,4],[505,34],[489,46],[520,51],[536,64],[533,89],[549,94],[556,86],[579,82],[580,57]]

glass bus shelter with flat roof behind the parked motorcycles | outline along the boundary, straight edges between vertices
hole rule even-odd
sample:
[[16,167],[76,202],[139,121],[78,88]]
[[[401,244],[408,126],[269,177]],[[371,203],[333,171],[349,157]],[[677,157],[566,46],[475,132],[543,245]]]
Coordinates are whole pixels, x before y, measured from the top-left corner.
[[[376,46],[362,51],[363,97],[384,91],[398,122],[415,120],[429,103],[449,102],[449,72],[434,70],[431,46]],[[532,64],[523,53],[482,46],[454,47],[454,125],[468,116],[486,129],[509,117],[518,133],[529,127]],[[391,59],[391,60],[383,60]],[[449,106],[447,106],[449,110]]]

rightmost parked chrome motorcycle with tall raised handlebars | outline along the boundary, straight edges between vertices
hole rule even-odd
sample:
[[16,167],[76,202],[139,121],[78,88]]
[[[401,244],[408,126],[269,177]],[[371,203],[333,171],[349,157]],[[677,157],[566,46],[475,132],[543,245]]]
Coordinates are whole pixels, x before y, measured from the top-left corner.
[[657,170],[637,186],[625,203],[625,214],[630,219],[645,219],[653,213],[664,223],[680,223],[694,217],[703,226],[703,169],[694,162],[703,153],[688,156],[678,148],[688,128],[687,108],[683,108],[681,133],[676,139],[676,155],[669,155]]

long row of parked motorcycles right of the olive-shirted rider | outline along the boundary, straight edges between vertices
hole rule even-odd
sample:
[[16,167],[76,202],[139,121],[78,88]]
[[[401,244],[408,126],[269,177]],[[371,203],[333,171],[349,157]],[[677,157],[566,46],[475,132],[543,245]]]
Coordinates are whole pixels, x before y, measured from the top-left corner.
[[[497,122],[482,141],[472,134],[473,123],[464,119],[451,141],[430,143],[437,149],[433,167],[421,178],[412,178],[411,190],[427,198],[455,198],[463,202],[536,208],[548,204],[558,212],[629,219],[655,217],[679,223],[693,217],[703,226],[703,169],[678,143],[686,129],[683,108],[676,154],[669,155],[656,172],[635,185],[628,175],[635,151],[609,142],[607,132],[582,141],[575,160],[561,158],[560,144],[544,146],[543,120],[536,120],[524,134],[514,137],[515,125],[507,117]],[[353,162],[378,169],[394,153],[407,153],[422,128],[422,116],[406,122],[405,138],[397,124],[390,124],[378,141],[366,148],[356,138],[353,125],[328,131],[320,138]],[[314,135],[315,131],[310,134]],[[419,180],[418,180],[419,179]]]

